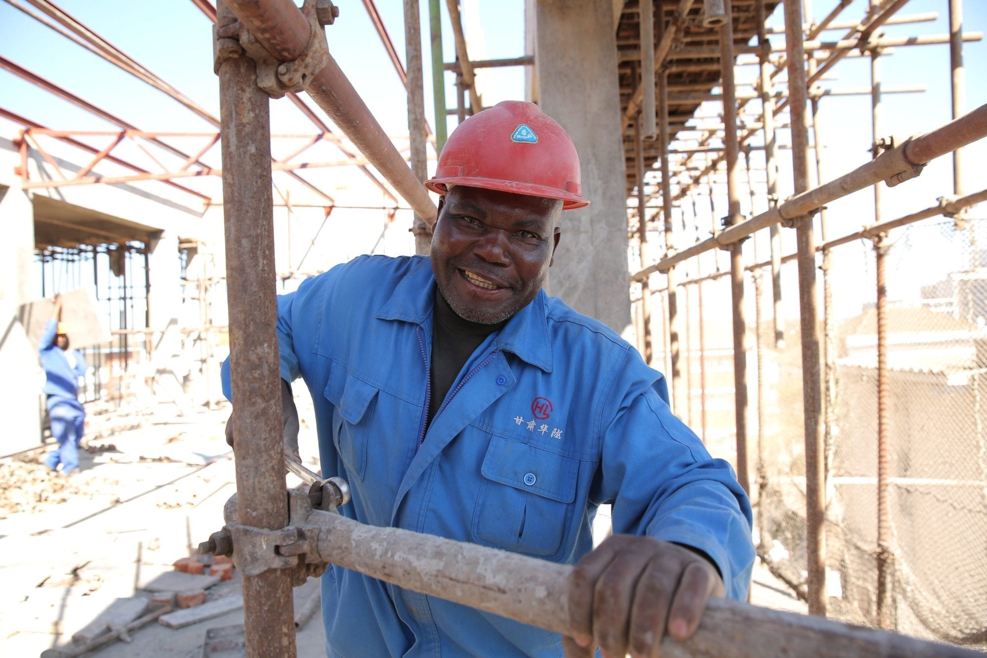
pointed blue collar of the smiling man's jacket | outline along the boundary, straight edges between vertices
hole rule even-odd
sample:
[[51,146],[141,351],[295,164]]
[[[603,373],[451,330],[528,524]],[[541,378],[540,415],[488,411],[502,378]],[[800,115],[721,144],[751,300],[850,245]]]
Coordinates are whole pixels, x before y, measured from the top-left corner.
[[[377,311],[382,320],[402,320],[424,324],[434,305],[435,277],[431,262],[422,258],[394,288],[391,298]],[[548,296],[541,289],[530,304],[510,318],[495,346],[545,372],[552,371],[552,345],[549,342]]]

